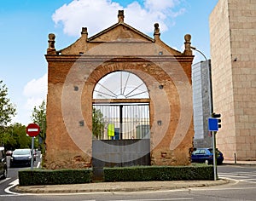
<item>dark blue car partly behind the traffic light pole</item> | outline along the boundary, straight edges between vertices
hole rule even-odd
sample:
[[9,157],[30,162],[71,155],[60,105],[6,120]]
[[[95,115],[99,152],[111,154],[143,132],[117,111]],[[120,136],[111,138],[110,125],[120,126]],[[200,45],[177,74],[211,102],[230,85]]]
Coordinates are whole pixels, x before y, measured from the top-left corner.
[[[216,149],[217,164],[222,164],[224,161],[223,153]],[[191,155],[192,163],[208,163],[213,164],[212,148],[197,148]]]

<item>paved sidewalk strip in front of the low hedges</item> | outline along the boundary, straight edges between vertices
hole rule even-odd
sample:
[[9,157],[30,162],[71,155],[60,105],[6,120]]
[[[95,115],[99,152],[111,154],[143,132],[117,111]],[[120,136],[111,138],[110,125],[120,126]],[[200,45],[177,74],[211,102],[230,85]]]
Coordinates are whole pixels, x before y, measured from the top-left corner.
[[230,181],[129,181],[129,182],[97,182],[71,185],[46,185],[15,187],[18,192],[29,193],[76,193],[76,192],[139,192],[174,190],[189,187],[212,187],[227,184]]

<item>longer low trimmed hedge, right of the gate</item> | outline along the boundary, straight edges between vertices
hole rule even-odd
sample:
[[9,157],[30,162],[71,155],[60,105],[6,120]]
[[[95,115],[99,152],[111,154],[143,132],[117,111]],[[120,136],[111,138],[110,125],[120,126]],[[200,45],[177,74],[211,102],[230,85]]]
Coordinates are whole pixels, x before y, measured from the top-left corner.
[[104,181],[214,180],[213,166],[135,166],[104,168]]

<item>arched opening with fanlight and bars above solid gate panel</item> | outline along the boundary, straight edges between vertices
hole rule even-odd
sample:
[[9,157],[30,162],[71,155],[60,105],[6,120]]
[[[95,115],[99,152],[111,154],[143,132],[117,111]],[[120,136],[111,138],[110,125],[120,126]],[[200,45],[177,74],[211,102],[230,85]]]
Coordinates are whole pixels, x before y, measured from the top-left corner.
[[93,91],[92,133],[98,140],[150,138],[149,93],[132,72],[111,72]]

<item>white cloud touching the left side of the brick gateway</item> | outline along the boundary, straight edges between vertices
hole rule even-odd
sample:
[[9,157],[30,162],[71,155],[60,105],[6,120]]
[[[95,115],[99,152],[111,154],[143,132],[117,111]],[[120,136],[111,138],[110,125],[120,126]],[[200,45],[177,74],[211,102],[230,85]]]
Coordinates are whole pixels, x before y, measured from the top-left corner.
[[26,110],[32,111],[34,106],[39,106],[43,100],[46,100],[47,95],[47,73],[38,79],[32,79],[26,83],[23,90],[23,95],[26,96]]

